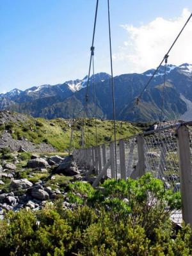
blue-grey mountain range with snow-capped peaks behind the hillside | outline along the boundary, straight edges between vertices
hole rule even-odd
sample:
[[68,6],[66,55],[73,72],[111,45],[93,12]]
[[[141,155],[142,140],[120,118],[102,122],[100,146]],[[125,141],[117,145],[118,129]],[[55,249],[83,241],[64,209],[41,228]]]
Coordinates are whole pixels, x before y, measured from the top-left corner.
[[[114,77],[116,118],[134,120],[135,114],[131,110],[132,104],[147,84],[154,70],[150,69],[142,74],[123,74]],[[141,103],[136,107],[138,120],[158,120],[161,113],[164,70],[164,65],[162,65],[143,93]],[[93,80],[95,81],[98,115],[109,119],[113,118],[111,79],[106,73],[99,73],[90,77],[89,116],[94,113]],[[83,116],[83,113],[79,113],[79,109],[84,108],[87,82],[88,77],[86,76],[83,79],[66,81],[53,86],[44,84],[33,86],[25,91],[14,89],[11,92],[0,94],[0,109],[10,109],[45,118]],[[189,113],[189,106],[191,106],[189,103],[192,102],[191,64],[166,66],[164,95],[165,118],[179,118],[186,111]]]

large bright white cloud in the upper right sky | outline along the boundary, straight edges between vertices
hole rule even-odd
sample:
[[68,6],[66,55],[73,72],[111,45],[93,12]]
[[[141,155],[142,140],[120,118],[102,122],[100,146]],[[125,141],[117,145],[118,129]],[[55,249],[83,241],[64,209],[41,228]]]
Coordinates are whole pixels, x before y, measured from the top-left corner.
[[[122,68],[123,72],[144,72],[149,68],[157,67],[189,15],[189,10],[185,8],[180,17],[175,19],[166,20],[157,17],[139,27],[121,25],[127,31],[129,40],[122,42],[119,51],[113,54],[116,69],[120,71]],[[192,20],[187,24],[169,55],[168,63],[175,65],[192,63]]]

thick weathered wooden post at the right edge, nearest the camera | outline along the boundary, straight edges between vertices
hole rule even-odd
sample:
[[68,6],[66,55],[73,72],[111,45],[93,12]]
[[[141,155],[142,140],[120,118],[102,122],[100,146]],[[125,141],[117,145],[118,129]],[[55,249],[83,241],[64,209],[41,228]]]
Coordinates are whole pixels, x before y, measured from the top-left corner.
[[192,173],[188,127],[182,125],[177,130],[179,144],[180,193],[182,217],[192,227]]

